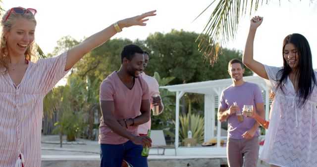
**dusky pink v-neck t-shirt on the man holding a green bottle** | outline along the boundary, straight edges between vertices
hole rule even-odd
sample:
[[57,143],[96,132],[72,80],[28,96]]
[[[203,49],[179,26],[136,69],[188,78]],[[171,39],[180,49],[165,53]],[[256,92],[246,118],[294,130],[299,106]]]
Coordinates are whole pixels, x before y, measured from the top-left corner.
[[[112,72],[100,85],[100,101],[113,101],[116,120],[135,118],[139,116],[142,100],[150,99],[148,84],[142,77],[135,79],[130,90],[119,79],[116,72]],[[128,126],[128,131],[138,135],[138,126]],[[128,139],[114,133],[105,123],[103,117],[100,119],[99,144],[123,144]]]

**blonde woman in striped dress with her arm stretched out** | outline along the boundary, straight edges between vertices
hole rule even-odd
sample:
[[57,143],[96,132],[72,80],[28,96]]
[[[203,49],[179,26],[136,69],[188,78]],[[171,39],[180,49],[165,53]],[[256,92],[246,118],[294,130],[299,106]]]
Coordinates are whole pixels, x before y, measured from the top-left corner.
[[0,166],[41,167],[43,99],[86,53],[156,11],[116,22],[59,56],[33,62],[36,9],[13,7],[1,19]]

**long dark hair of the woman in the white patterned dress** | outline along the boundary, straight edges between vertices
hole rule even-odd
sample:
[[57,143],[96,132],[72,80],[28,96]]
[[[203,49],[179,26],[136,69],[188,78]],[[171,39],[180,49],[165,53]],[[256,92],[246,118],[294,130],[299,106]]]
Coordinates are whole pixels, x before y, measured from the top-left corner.
[[[288,43],[294,44],[297,49],[296,61],[297,71],[295,72],[295,78],[298,80],[298,90],[296,96],[300,98],[300,106],[305,104],[305,101],[311,95],[316,84],[315,72],[313,69],[312,52],[306,38],[301,34],[291,34],[285,37],[283,42],[283,69],[276,74],[277,87],[280,87],[283,91],[283,84],[288,77],[288,74],[292,71],[291,67],[287,64],[284,58],[285,45]],[[299,56],[299,59],[298,59]],[[314,84],[312,84],[314,83]]]

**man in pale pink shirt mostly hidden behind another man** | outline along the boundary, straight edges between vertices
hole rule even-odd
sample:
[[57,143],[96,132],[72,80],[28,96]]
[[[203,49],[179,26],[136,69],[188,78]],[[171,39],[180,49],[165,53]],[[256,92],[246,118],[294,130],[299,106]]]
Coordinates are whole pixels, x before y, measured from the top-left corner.
[[[144,69],[148,66],[148,62],[150,59],[149,53],[144,51],[144,64],[143,67]],[[149,85],[149,89],[150,89],[150,95],[151,95],[151,99],[150,99],[150,103],[151,103],[151,109],[154,109],[154,104],[155,105],[159,105],[159,111],[158,114],[161,114],[164,110],[164,106],[163,103],[161,101],[161,98],[159,96],[159,83],[158,81],[153,78],[150,77],[148,75],[146,75],[144,72],[141,73],[140,75]],[[153,110],[154,111],[154,110]],[[155,114],[154,114],[155,115]],[[147,135],[148,133],[148,129],[151,129],[151,117],[150,120],[142,125],[139,125],[138,127],[138,133],[140,136],[142,135]]]

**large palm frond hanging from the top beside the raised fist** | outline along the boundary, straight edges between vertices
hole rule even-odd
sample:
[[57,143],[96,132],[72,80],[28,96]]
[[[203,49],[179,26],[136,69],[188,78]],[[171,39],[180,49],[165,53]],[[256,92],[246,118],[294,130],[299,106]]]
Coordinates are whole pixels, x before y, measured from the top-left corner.
[[[203,12],[214,3],[215,0]],[[207,25],[196,39],[196,42],[199,42],[199,51],[203,52],[205,59],[211,65],[218,60],[222,45],[235,39],[239,19],[246,14],[248,6],[250,6],[251,15],[253,10],[258,10],[259,4],[260,0],[251,0],[251,2],[250,0],[219,0],[217,4],[214,4],[215,8]],[[263,4],[263,0],[261,4]]]

